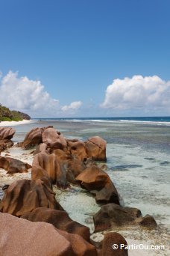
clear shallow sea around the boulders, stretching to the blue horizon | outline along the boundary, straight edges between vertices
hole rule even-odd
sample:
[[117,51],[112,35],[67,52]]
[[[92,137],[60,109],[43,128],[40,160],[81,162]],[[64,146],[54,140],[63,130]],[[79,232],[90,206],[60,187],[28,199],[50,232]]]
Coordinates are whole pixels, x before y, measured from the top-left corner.
[[[139,208],[143,216],[154,216],[158,224],[156,231],[141,228],[115,231],[123,234],[129,243],[135,240],[136,243],[142,241],[166,246],[165,252],[141,255],[169,255],[170,117],[33,119],[30,124],[15,127],[13,140],[22,141],[32,128],[49,125],[66,138],[84,141],[98,135],[107,141],[107,174],[119,192],[122,205]],[[92,214],[99,209],[94,199],[77,187],[72,187],[71,192],[58,192],[57,189],[55,192],[71,218],[89,225],[92,231]]]

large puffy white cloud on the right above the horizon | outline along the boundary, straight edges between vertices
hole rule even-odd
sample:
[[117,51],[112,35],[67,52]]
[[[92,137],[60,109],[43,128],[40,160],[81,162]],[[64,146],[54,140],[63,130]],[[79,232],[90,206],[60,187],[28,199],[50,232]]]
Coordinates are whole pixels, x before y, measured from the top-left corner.
[[115,79],[107,87],[102,108],[148,111],[170,110],[170,81],[159,76],[133,76]]

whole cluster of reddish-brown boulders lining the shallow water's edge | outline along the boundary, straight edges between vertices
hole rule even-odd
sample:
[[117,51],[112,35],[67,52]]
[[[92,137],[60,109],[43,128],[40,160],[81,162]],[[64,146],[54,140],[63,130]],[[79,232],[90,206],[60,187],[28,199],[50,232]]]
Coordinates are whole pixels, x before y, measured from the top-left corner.
[[[14,133],[12,128],[0,128],[1,151],[13,146],[11,138]],[[15,180],[3,188],[0,218],[4,233],[1,237],[4,234],[12,236],[14,232],[11,229],[9,231],[8,222],[20,227],[20,237],[23,236],[23,227],[33,232],[37,230],[38,224],[32,222],[42,222],[40,228],[49,229],[48,236],[53,236],[54,240],[51,247],[48,246],[48,252],[44,249],[45,254],[37,252],[37,248],[43,248],[44,243],[48,243],[47,237],[41,243],[37,241],[37,247],[31,248],[29,255],[51,255],[51,252],[54,255],[127,255],[127,250],[113,250],[113,244],[127,244],[125,238],[116,232],[106,232],[101,243],[90,240],[89,228],[70,219],[52,190],[53,185],[58,189],[69,190],[71,184],[74,184],[91,193],[101,207],[93,216],[95,232],[134,225],[156,228],[157,223],[152,216],[142,217],[139,209],[120,205],[116,187],[104,171],[106,146],[106,141],[100,137],[92,137],[87,141],[71,140],[64,138],[53,127],[43,127],[32,129],[25,140],[17,144],[17,147],[31,150],[34,157],[32,166],[1,153],[0,168],[8,174],[31,172],[31,179]],[[53,226],[47,226],[44,222]],[[33,241],[30,233],[26,240]],[[11,245],[11,240],[3,244],[5,255],[8,253],[7,246],[11,248]]]

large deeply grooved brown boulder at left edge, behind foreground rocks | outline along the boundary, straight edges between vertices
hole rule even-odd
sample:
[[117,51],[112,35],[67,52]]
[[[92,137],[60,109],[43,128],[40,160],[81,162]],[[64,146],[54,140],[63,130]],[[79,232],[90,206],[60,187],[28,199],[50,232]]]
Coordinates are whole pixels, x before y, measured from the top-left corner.
[[42,180],[16,180],[4,190],[0,203],[2,213],[22,216],[37,207],[63,210],[54,192]]

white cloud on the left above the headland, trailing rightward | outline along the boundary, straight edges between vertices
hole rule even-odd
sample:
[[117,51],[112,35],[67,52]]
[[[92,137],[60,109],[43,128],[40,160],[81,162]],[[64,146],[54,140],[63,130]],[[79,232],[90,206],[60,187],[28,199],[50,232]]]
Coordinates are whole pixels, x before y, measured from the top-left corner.
[[[0,73],[1,74],[1,73]],[[19,77],[18,73],[9,71],[1,78],[0,103],[10,109],[25,111],[37,116],[60,116],[62,112],[78,109],[81,101],[69,106],[60,106],[59,100],[53,99],[39,80]]]

